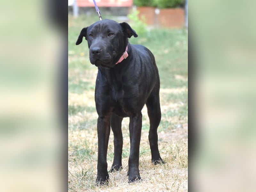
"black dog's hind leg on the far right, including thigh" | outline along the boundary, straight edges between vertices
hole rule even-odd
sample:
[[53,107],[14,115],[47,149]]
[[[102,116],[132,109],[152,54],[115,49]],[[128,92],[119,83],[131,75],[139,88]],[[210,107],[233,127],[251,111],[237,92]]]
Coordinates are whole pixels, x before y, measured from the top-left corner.
[[148,108],[148,117],[150,122],[150,129],[148,134],[148,140],[151,149],[151,161],[152,163],[160,164],[165,163],[160,157],[158,150],[158,135],[157,128],[161,121],[161,109],[160,109],[160,100],[159,100],[159,84],[154,87],[148,100],[146,102]]

